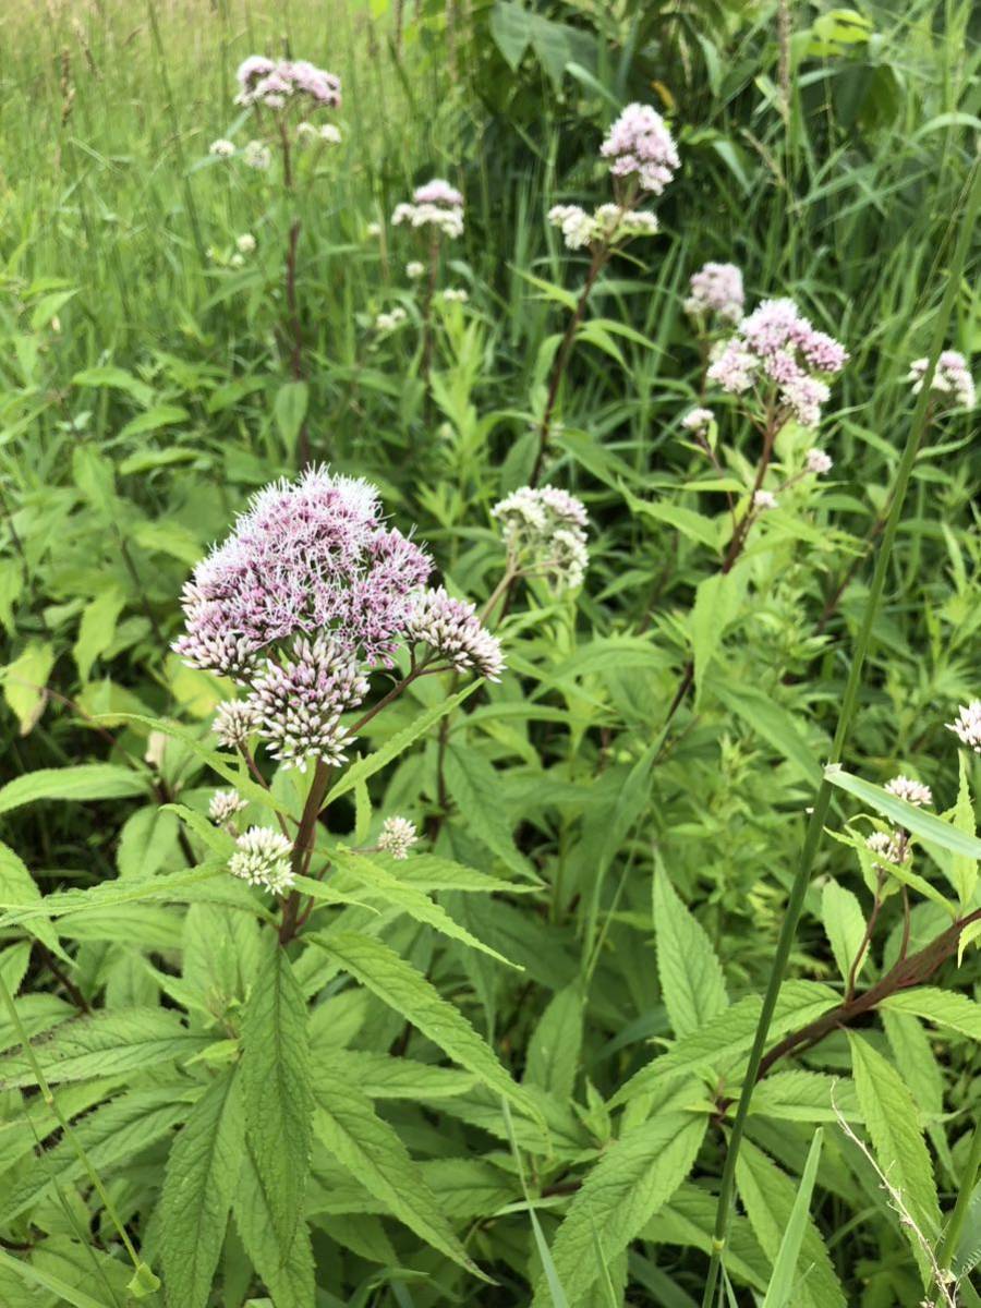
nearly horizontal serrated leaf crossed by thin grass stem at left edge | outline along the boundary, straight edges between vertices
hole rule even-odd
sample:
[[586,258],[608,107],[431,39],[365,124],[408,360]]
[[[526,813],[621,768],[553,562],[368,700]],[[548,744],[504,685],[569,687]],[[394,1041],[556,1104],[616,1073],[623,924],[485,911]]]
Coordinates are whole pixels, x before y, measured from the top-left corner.
[[[118,1008],[67,1022],[34,1045],[34,1057],[52,1084],[119,1076],[200,1053],[209,1036],[187,1031],[165,1008]],[[0,1058],[0,1090],[37,1086],[26,1056]]]

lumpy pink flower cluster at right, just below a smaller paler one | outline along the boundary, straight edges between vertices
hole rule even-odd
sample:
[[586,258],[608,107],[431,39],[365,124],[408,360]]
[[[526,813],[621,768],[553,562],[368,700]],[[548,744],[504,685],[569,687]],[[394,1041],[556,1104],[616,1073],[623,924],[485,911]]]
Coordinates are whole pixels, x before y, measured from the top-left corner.
[[816,426],[831,395],[824,378],[846,361],[845,347],[818,331],[793,300],[765,300],[739,323],[708,375],[735,395],[769,383],[789,415],[802,426]]

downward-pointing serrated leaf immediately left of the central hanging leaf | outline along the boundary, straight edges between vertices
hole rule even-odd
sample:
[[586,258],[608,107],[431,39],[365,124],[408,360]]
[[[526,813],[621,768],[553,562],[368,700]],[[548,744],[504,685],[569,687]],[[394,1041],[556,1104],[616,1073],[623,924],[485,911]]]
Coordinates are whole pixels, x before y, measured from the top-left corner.
[[245,1121],[238,1076],[222,1073],[174,1141],[160,1201],[160,1257],[171,1308],[204,1308],[241,1171]]

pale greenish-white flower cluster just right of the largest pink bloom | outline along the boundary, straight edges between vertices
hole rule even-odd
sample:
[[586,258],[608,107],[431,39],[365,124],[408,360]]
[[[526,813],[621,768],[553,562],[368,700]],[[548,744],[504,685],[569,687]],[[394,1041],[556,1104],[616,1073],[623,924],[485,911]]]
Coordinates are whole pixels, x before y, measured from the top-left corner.
[[522,487],[496,504],[509,551],[544,573],[556,590],[582,585],[589,562],[589,514],[581,500],[557,487]]

